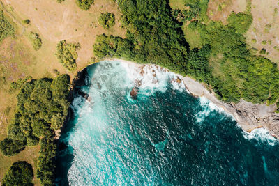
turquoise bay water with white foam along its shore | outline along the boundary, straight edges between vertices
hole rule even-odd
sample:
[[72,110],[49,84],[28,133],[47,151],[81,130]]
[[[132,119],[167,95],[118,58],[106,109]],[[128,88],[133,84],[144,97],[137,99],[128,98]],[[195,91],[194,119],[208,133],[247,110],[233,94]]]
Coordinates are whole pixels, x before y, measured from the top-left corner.
[[58,185],[279,185],[278,141],[243,132],[171,72],[108,61],[87,71],[89,100],[75,96],[61,135]]

